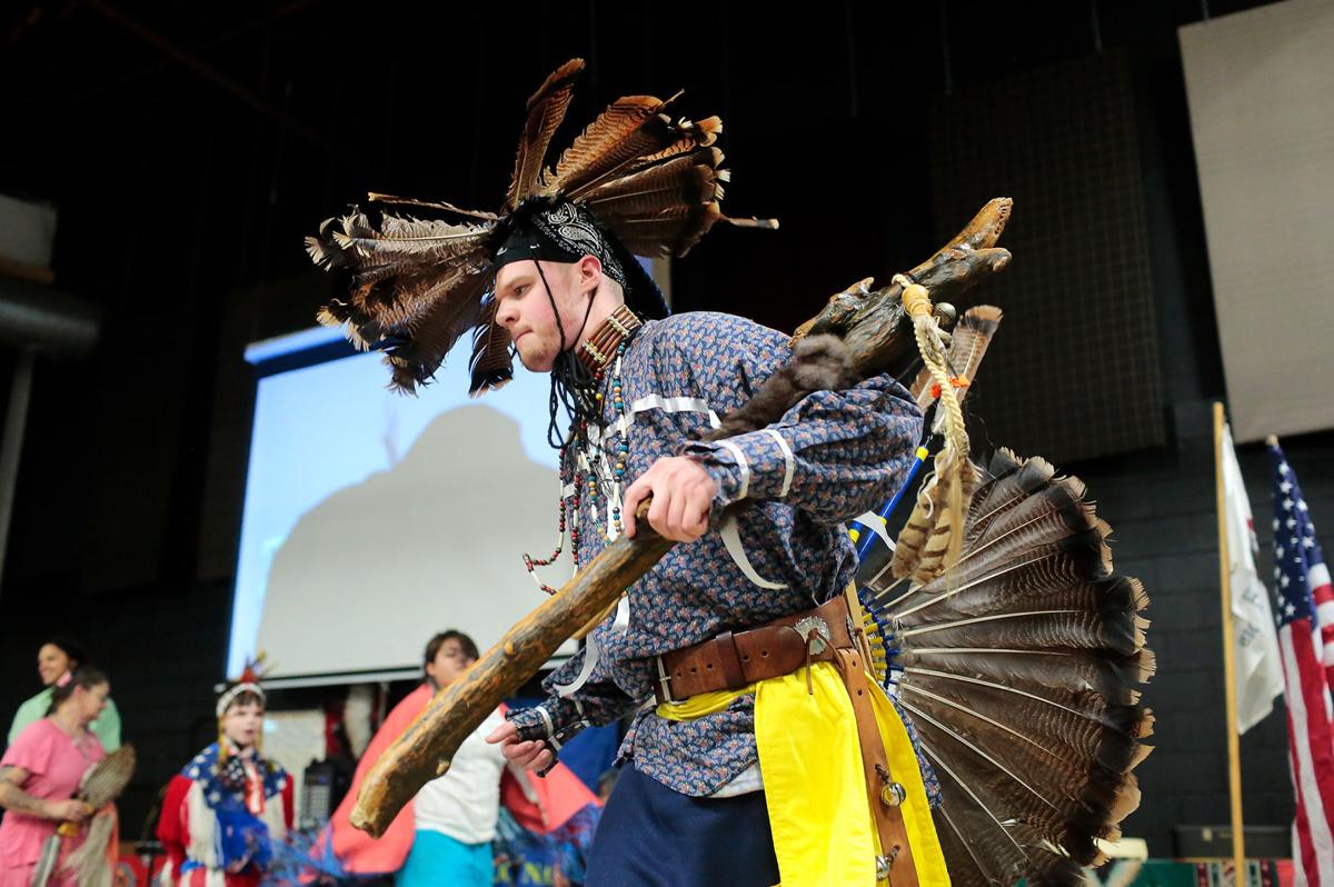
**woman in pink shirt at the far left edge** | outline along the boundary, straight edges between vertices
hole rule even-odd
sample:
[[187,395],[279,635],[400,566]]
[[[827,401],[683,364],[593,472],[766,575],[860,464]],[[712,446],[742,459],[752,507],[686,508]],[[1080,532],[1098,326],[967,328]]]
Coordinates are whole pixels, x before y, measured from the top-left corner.
[[[61,822],[84,823],[95,811],[75,800],[84,774],[105,758],[101,742],[88,724],[107,707],[111,684],[107,675],[80,666],[57,682],[51,711],[19,734],[0,759],[0,887],[28,887],[47,839]],[[87,838],[80,827],[73,836],[60,839],[60,862],[51,887],[72,887],[75,874],[64,860]]]

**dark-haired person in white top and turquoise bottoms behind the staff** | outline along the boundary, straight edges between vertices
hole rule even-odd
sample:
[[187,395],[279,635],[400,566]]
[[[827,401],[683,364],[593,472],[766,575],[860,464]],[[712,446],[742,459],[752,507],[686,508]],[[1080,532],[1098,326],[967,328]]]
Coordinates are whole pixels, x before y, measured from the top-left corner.
[[[426,646],[423,659],[427,680],[440,690],[478,660],[478,646],[462,631],[444,631]],[[416,835],[395,878],[398,887],[491,887],[491,839],[506,760],[500,747],[484,738],[503,722],[499,708],[491,712],[459,746],[450,771],[418,792],[412,803]]]

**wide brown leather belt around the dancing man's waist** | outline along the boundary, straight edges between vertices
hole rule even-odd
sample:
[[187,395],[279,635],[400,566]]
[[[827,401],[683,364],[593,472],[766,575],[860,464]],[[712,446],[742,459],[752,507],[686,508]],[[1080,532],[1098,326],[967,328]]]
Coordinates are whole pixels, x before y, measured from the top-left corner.
[[790,675],[807,662],[832,662],[834,651],[854,646],[842,595],[815,610],[783,616],[746,631],[658,656],[658,703],[678,703],[714,690],[740,690],[766,678]]

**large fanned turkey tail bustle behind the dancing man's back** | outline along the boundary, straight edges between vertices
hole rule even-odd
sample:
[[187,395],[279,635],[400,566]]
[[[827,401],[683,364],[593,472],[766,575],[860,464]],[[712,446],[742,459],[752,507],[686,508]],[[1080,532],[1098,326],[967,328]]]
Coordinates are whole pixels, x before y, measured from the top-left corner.
[[1006,450],[978,474],[950,571],[904,590],[886,555],[859,567],[872,650],[940,779],[952,883],[1082,884],[1139,803],[1149,596],[1078,479]]

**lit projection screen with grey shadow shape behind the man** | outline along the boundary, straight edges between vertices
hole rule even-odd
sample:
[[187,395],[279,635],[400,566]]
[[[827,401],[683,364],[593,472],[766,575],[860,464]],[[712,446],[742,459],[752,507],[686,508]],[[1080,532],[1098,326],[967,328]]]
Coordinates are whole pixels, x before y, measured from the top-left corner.
[[228,674],[256,651],[275,676],[414,667],[434,632],[490,646],[542,602],[522,554],[556,539],[548,380],[470,400],[466,371],[418,397],[378,355],[260,380]]

